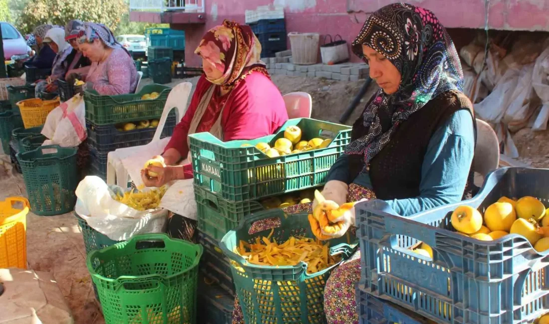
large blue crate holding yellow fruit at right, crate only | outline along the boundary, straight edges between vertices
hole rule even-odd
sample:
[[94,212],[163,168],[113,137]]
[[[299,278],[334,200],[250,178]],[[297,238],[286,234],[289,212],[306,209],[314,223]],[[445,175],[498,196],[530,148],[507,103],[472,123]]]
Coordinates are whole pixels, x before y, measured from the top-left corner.
[[[549,169],[503,168],[486,178],[472,200],[404,218],[384,201],[360,203],[359,287],[439,323],[517,324],[549,310],[549,251],[538,253],[520,235],[479,241],[454,232],[461,205],[481,213],[500,197],[534,196],[548,204]],[[408,248],[419,241],[433,259]]]

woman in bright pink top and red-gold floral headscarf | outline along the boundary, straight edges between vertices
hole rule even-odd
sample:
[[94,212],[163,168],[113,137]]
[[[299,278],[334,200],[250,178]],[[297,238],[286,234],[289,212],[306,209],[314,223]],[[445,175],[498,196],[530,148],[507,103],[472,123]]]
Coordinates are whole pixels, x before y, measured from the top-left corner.
[[[158,173],[155,178],[149,177],[147,169],[142,170],[147,186],[192,179],[190,163],[178,166],[189,154],[189,134],[210,132],[223,141],[255,139],[274,133],[288,120],[282,95],[260,60],[261,44],[250,26],[226,20],[206,32],[195,53],[202,58],[204,75],[164,153],[155,157],[167,167],[150,167]],[[170,235],[191,239],[195,219],[195,215],[192,219],[173,215]]]

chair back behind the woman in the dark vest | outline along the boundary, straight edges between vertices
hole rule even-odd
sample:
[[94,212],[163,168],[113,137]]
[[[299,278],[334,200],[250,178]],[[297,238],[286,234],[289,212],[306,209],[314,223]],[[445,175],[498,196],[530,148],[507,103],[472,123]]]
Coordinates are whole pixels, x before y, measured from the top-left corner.
[[483,178],[500,164],[500,141],[494,129],[484,121],[477,119],[477,147],[475,147],[474,172]]

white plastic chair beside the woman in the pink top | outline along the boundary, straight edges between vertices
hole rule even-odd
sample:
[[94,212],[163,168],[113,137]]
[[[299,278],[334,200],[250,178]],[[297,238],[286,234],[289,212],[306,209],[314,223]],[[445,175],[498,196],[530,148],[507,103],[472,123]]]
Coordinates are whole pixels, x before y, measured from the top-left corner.
[[[124,147],[122,149],[117,149],[115,151],[109,152],[107,155],[107,184],[112,185],[116,184],[121,187],[126,187],[128,181],[131,179],[128,178],[128,171],[122,164],[122,160],[132,155],[135,155],[138,151],[146,150],[146,146],[153,146],[156,142],[160,141],[160,135],[164,129],[164,124],[166,123],[166,118],[172,109],[176,110],[176,123],[181,121],[181,118],[187,112],[187,101],[191,95],[192,89],[191,82],[182,82],[173,87],[168,95],[166,104],[164,105],[164,111],[162,112],[162,117],[160,117],[160,122],[158,127],[156,127],[156,132],[154,133],[153,139],[147,145],[133,146],[133,147]],[[162,139],[169,140],[167,139]],[[152,157],[145,156],[147,159]],[[146,160],[145,160],[146,161]],[[144,164],[145,162],[143,162]]]

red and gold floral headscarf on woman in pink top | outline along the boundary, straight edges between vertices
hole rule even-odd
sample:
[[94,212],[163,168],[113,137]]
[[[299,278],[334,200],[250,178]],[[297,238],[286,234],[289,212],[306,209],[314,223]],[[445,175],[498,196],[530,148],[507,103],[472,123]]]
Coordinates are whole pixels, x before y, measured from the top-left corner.
[[260,60],[261,43],[248,25],[223,21],[206,32],[194,53],[223,73],[219,79],[208,81],[225,89],[232,89],[253,70],[268,76],[265,63]]

